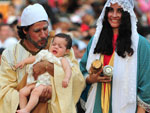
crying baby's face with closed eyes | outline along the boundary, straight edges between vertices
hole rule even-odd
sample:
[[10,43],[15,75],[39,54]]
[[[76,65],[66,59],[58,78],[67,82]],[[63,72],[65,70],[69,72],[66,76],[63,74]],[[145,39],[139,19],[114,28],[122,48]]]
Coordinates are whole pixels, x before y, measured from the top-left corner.
[[63,57],[67,53],[67,41],[64,38],[55,37],[50,47],[50,52],[56,57]]

